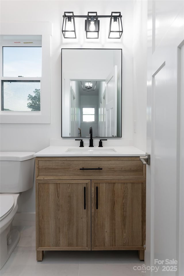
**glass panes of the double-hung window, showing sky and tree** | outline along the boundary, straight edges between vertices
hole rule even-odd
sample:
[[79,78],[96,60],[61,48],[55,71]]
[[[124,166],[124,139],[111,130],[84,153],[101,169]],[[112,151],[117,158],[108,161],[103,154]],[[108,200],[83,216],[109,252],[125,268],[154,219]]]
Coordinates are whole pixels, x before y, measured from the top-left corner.
[[[33,41],[19,38],[14,43],[34,45]],[[2,111],[40,111],[40,81],[41,47],[3,47]]]

